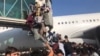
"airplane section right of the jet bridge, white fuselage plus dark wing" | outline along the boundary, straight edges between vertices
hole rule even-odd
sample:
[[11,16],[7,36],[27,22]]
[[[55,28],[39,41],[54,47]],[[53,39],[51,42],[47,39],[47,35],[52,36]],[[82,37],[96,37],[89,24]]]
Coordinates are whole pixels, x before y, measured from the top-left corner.
[[96,43],[94,40],[98,37],[96,30],[100,26],[99,15],[100,13],[88,13],[54,17],[52,31],[60,33],[63,39],[67,35],[70,41]]

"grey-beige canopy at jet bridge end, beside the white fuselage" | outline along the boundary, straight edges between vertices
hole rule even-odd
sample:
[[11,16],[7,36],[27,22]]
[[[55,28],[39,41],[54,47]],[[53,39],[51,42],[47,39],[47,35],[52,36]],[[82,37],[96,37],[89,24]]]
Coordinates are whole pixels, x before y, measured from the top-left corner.
[[51,1],[46,0],[46,10],[48,10],[48,13],[43,14],[44,23],[46,26],[49,27],[49,32],[53,28],[53,16],[52,16],[52,7],[51,7]]

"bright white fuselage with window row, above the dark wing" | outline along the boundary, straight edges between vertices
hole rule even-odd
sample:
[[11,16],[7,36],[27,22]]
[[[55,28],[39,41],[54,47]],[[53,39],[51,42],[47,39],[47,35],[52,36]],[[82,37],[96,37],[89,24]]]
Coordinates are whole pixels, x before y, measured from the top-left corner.
[[[100,25],[100,13],[78,14],[54,17],[54,28],[52,31],[60,33],[62,37],[75,37],[84,31]],[[67,22],[67,24],[66,24]]]

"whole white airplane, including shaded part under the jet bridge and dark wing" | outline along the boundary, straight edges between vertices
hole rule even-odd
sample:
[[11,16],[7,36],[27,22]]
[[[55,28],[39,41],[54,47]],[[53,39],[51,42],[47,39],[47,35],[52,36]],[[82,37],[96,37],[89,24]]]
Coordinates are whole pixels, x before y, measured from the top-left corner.
[[[55,31],[61,34],[63,39],[67,35],[71,42],[87,42],[99,45],[99,34],[96,35],[99,32],[99,26],[100,13],[55,16],[53,17],[52,32]],[[28,35],[28,31],[20,28],[8,28],[5,30],[1,28],[1,30],[1,51],[7,46],[15,46],[20,49],[43,46],[41,41],[35,40],[32,36]]]

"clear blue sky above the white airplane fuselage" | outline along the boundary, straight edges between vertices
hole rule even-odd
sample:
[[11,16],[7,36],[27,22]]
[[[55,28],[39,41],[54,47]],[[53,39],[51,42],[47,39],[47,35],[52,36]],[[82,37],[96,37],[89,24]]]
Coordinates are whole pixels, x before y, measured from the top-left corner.
[[99,13],[100,0],[52,0],[53,16]]

